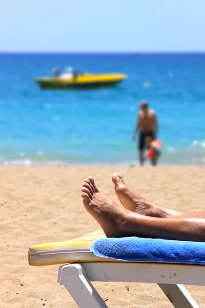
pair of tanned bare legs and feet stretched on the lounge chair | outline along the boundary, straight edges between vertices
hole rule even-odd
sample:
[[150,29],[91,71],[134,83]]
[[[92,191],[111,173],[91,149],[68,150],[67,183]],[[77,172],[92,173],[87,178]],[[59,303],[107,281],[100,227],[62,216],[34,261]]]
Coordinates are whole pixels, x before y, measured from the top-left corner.
[[186,213],[157,206],[132,191],[117,173],[112,182],[123,206],[100,192],[93,177],[84,180],[81,192],[84,207],[107,238],[138,236],[205,242],[205,212]]

